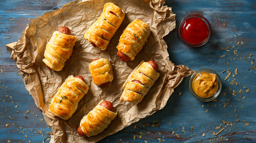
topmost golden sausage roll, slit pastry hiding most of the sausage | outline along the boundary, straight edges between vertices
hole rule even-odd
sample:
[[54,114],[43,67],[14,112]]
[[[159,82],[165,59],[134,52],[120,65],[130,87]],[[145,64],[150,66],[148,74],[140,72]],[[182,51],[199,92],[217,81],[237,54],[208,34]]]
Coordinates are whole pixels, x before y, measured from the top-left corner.
[[124,19],[124,11],[113,3],[106,3],[100,17],[84,34],[92,45],[100,50],[105,50],[111,38]]

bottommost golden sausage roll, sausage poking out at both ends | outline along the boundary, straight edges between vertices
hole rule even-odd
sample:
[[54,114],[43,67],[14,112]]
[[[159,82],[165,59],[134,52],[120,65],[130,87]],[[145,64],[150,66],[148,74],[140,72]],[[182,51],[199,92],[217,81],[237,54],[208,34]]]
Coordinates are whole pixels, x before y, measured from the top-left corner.
[[92,136],[101,133],[110,122],[117,116],[112,103],[101,101],[80,121],[77,133],[80,136]]

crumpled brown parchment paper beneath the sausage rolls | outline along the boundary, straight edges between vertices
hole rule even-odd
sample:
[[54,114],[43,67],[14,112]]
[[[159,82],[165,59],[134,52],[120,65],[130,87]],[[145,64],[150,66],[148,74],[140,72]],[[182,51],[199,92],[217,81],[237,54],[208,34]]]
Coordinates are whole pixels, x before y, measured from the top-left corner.
[[[102,13],[105,3],[113,2],[125,12],[125,18],[105,51],[94,48],[83,35]],[[27,25],[17,42],[7,45],[11,58],[17,61],[26,89],[36,105],[43,111],[46,123],[52,128],[51,142],[97,142],[115,134],[130,124],[162,109],[182,79],[194,71],[176,66],[168,58],[167,45],[162,39],[175,28],[175,14],[163,6],[164,0],[78,0],[61,9],[49,11]],[[123,29],[135,19],[151,27],[147,43],[133,61],[122,62],[117,57],[116,46]],[[66,26],[77,36],[72,56],[65,62],[62,71],[49,70],[42,62],[45,46],[58,28]],[[89,64],[95,58],[107,58],[113,66],[114,79],[106,87],[96,86],[92,81]],[[138,104],[121,101],[122,85],[142,61],[154,60],[159,65],[160,77]],[[64,121],[48,111],[49,101],[69,75],[84,77],[88,93],[78,103],[73,116]],[[101,100],[111,101],[117,117],[100,134],[80,137],[77,127],[84,115]]]

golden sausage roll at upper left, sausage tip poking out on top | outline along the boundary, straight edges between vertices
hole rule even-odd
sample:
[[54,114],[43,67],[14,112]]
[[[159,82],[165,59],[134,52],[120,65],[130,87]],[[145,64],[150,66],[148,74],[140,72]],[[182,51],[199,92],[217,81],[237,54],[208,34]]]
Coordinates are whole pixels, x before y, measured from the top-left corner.
[[46,44],[43,62],[54,71],[60,71],[64,63],[72,54],[77,38],[71,35],[68,27],[61,27],[53,32],[53,36]]

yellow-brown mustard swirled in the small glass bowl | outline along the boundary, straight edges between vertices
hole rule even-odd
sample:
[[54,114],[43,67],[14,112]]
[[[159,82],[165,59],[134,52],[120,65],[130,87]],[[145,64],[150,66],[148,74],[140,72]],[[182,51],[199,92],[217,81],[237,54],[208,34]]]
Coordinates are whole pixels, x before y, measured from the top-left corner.
[[193,80],[192,88],[196,95],[202,98],[212,96],[218,89],[216,74],[208,72],[197,74]]

